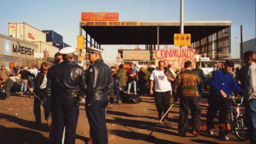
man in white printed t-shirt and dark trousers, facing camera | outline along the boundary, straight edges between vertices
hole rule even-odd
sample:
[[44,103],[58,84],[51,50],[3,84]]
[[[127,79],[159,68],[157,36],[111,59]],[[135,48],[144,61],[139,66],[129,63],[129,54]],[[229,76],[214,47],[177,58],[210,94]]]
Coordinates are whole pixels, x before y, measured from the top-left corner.
[[[166,72],[164,71],[164,65],[165,62],[163,60],[160,60],[158,62],[158,69],[155,69],[150,76],[150,94],[154,94],[159,119],[162,118],[162,115],[168,110],[170,106],[172,89],[170,81],[174,80],[173,78],[166,76]],[[163,121],[167,121],[167,118],[168,114],[165,116]]]

